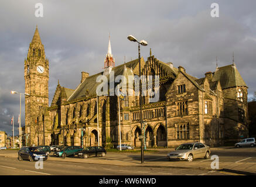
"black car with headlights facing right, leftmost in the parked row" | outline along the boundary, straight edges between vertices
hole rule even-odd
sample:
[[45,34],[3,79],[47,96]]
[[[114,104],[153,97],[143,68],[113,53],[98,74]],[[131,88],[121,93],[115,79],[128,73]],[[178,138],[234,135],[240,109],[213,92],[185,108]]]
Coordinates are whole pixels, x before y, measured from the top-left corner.
[[43,159],[47,160],[47,155],[40,147],[22,147],[18,152],[18,160],[37,161]]

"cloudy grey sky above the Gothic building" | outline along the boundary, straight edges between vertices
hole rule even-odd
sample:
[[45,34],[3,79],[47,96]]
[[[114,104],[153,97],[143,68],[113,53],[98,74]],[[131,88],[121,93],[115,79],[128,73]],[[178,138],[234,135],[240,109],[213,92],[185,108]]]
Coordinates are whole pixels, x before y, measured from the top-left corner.
[[[43,17],[35,5],[43,5]],[[212,17],[211,4],[219,5]],[[149,50],[161,61],[182,66],[197,78],[233,61],[245,83],[248,98],[256,91],[256,1],[254,0],[95,0],[0,2],[0,131],[12,134],[11,117],[18,134],[19,95],[25,92],[24,60],[37,28],[49,59],[49,105],[60,85],[76,89],[81,71],[103,71],[110,35],[115,65],[138,58],[132,34],[146,40],[141,56]],[[25,126],[22,96],[22,126]]]

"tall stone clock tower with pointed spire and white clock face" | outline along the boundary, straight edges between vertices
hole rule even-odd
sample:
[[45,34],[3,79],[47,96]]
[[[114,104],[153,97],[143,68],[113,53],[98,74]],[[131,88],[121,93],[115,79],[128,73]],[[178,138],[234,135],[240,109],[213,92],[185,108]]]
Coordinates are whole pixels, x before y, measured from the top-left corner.
[[38,119],[40,108],[49,106],[49,61],[45,57],[45,48],[41,42],[39,32],[35,34],[29,44],[28,56],[24,61],[25,79],[25,129],[28,146],[38,144]]

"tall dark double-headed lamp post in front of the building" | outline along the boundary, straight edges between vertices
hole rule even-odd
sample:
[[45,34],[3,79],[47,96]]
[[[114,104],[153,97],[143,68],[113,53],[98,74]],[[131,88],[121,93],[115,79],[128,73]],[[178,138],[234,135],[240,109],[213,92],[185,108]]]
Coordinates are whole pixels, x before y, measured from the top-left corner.
[[[136,43],[138,43],[138,52],[139,52],[139,106],[141,108],[141,129],[142,129],[142,85],[141,85],[141,47],[142,46],[147,46],[148,43],[145,40],[141,40],[141,41],[137,41],[137,39],[135,39],[134,36],[129,35],[127,37],[128,40],[130,41],[134,41]],[[141,138],[141,164],[144,163],[144,138]]]

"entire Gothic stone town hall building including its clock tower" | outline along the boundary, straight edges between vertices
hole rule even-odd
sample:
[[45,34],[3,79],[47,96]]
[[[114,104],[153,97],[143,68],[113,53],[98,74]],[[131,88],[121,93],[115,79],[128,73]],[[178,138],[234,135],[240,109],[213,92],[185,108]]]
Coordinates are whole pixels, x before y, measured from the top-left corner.
[[[106,67],[105,63],[105,70],[95,75],[83,71],[75,90],[64,88],[58,82],[48,106],[49,62],[39,39],[36,29],[25,60],[25,91],[30,94],[25,98],[29,145],[105,146],[112,143],[117,146],[121,132],[122,143],[138,147],[141,146],[139,136],[144,131],[149,147],[172,147],[187,141],[220,145],[248,136],[247,85],[235,64],[217,67],[215,72],[207,72],[198,79],[187,74],[183,67],[175,68],[172,63],[158,60],[150,51],[146,61],[141,58],[141,72],[159,75],[159,89],[154,81],[152,86],[159,93],[159,100],[149,102],[148,95],[142,96],[145,127],[141,127],[139,96],[135,94],[138,86],[128,86],[132,94],[124,98],[109,94],[111,76],[136,79],[139,59],[117,67],[114,63]],[[42,50],[40,57],[33,56],[34,48]],[[107,58],[110,57],[111,49],[108,49]],[[45,67],[45,71],[37,71],[38,65]],[[101,84],[97,81],[99,75],[105,75],[108,80],[108,94],[101,96],[96,94]],[[114,88],[118,84],[115,82]]]

